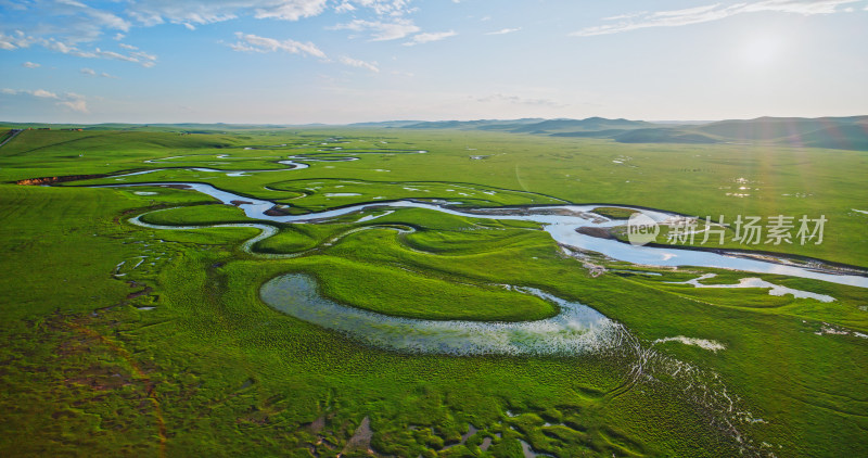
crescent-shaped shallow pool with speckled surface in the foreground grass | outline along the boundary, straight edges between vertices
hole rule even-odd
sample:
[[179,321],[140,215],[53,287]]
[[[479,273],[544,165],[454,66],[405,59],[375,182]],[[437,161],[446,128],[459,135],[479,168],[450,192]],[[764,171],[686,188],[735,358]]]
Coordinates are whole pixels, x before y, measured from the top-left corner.
[[451,355],[574,355],[621,342],[624,328],[599,311],[531,288],[516,289],[557,304],[557,316],[538,321],[484,322],[393,317],[337,304],[320,295],[304,273],[277,277],[259,295],[272,308],[382,348]]

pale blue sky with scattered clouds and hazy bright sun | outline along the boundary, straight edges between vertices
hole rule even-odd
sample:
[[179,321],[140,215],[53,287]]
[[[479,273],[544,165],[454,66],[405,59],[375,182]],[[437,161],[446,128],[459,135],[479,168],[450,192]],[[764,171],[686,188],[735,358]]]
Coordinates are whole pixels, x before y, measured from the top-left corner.
[[868,114],[868,0],[0,0],[0,120]]

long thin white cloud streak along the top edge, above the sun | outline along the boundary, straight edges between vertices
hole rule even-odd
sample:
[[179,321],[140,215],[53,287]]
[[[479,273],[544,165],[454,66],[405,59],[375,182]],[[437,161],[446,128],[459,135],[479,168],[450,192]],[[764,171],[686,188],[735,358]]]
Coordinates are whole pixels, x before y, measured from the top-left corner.
[[802,14],[806,16],[814,14],[832,14],[844,11],[840,10],[839,7],[858,1],[861,0],[760,0],[730,5],[715,3],[685,10],[613,16],[609,20],[618,22],[586,27],[570,35],[589,37],[593,35],[618,34],[649,27],[678,27],[720,21],[744,13],[776,12]]

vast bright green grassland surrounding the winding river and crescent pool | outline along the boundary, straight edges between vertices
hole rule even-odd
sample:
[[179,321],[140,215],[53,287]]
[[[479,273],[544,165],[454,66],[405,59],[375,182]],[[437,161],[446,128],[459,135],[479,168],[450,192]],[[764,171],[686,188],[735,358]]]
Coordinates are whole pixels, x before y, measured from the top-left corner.
[[[279,163],[290,157],[309,167]],[[571,256],[536,224],[422,208],[267,222],[277,233],[247,252],[258,229],[207,226],[255,218],[153,183],[207,183],[298,215],[401,199],[587,203],[616,218],[629,212],[611,205],[727,221],[824,215],[821,244],[739,247],[867,268],[866,171],[865,151],[770,144],[27,130],[0,148],[0,455],[864,456],[866,289]],[[152,185],[92,188],[135,183]],[[201,228],[128,221],[139,215]],[[259,288],[295,272],[337,303],[411,319],[557,315],[502,285],[536,288],[599,310],[635,342],[548,356],[376,348],[269,307]],[[717,273],[706,284],[758,277],[834,301],[676,284],[704,273]]]

